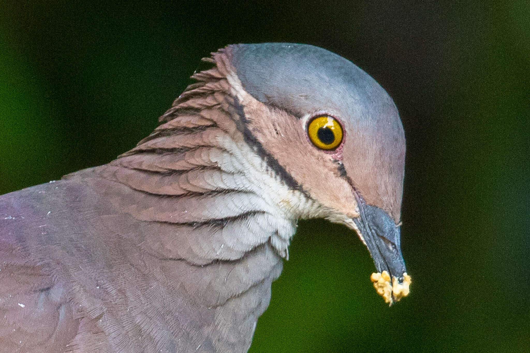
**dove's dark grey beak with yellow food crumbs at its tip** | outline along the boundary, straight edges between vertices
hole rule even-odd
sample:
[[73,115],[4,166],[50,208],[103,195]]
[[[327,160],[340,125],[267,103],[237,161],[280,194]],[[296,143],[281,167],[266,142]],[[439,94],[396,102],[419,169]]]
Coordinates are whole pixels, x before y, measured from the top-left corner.
[[350,228],[357,231],[374,259],[378,273],[370,279],[377,293],[392,305],[409,294],[411,283],[401,255],[400,227],[379,207],[367,205],[364,200],[358,205],[360,216],[349,222]]

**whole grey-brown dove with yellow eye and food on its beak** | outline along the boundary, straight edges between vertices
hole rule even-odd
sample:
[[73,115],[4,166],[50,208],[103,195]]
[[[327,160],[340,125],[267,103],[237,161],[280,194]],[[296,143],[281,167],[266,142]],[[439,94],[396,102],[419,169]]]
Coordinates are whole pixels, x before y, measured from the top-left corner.
[[377,293],[409,294],[385,90],[309,44],[202,60],[133,149],[0,196],[0,352],[247,351],[299,219],[355,231]]

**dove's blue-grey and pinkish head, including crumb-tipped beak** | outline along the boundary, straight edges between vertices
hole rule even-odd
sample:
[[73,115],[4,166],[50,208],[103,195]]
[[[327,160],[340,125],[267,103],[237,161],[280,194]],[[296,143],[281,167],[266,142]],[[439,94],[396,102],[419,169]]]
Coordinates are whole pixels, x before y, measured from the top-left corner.
[[409,292],[400,249],[405,137],[392,98],[365,71],[305,44],[228,46],[223,61],[245,134],[269,165],[321,207],[299,210],[354,229],[392,304]]

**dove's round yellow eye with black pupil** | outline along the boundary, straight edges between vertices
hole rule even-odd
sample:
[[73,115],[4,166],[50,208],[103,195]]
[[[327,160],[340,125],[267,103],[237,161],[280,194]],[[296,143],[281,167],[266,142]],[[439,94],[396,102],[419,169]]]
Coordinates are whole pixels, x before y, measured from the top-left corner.
[[323,150],[337,148],[342,142],[342,126],[327,115],[314,117],[307,125],[307,134],[311,142]]

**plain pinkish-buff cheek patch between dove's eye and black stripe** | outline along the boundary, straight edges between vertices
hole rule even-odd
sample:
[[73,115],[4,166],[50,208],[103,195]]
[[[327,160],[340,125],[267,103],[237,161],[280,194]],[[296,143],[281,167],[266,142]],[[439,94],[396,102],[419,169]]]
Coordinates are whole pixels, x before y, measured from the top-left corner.
[[249,131],[292,177],[297,187],[336,213],[347,218],[358,217],[352,185],[341,175],[347,131],[344,131],[337,148],[317,148],[308,137],[308,119],[297,119],[285,111],[268,107],[247,93],[241,94],[241,97]]

